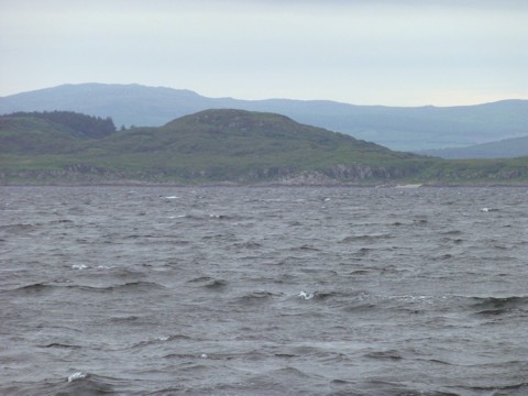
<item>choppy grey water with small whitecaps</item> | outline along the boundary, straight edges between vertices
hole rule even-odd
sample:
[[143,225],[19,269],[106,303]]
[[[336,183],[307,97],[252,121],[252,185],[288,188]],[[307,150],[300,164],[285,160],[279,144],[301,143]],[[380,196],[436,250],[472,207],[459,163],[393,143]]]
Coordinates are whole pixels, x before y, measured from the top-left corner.
[[527,395],[526,188],[0,188],[2,395]]

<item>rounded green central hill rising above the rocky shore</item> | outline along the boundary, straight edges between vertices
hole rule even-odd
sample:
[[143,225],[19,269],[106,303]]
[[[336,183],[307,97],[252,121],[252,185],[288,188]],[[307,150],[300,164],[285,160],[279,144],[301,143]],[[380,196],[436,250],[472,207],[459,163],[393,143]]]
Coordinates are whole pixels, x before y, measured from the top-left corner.
[[235,110],[204,111],[160,129],[121,132],[102,143],[121,168],[131,162],[144,168],[148,161],[148,166],[184,178],[258,178],[337,164],[397,166],[402,160],[420,158],[282,116]]

